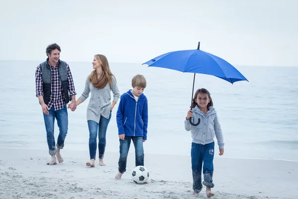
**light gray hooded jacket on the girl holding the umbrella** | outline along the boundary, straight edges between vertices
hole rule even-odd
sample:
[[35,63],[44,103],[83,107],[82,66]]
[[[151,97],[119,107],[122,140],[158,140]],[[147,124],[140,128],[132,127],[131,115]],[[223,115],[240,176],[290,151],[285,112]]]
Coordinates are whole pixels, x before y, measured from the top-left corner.
[[223,149],[224,136],[215,108],[209,106],[209,110],[206,113],[206,115],[201,111],[201,109],[197,105],[192,110],[193,117],[195,118],[195,121],[193,123],[197,123],[198,118],[201,119],[200,124],[197,126],[191,125],[189,120],[187,119],[185,119],[184,121],[185,130],[191,132],[193,142],[203,145],[209,144],[214,142],[214,137],[216,136],[219,148]]

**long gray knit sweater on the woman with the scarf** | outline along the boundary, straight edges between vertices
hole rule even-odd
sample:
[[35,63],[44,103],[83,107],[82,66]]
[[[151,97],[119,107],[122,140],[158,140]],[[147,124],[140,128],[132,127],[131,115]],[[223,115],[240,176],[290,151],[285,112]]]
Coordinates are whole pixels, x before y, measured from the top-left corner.
[[113,92],[113,101],[117,102],[120,98],[120,92],[117,87],[116,79],[112,76],[113,84],[108,83],[105,88],[97,89],[86,79],[85,89],[79,97],[81,100],[86,100],[91,93],[89,104],[87,106],[87,121],[93,120],[99,123],[100,115],[109,118],[111,109],[111,91]]

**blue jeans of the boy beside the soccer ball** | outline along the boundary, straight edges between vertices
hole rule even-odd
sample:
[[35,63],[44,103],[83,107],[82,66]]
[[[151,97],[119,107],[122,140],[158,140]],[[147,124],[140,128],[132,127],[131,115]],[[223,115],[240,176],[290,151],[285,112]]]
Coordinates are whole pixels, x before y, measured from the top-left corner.
[[143,136],[142,137],[125,136],[124,140],[119,139],[120,158],[118,162],[118,166],[119,166],[118,171],[122,174],[126,171],[127,156],[128,156],[131,140],[133,140],[133,143],[135,146],[136,167],[144,166]]

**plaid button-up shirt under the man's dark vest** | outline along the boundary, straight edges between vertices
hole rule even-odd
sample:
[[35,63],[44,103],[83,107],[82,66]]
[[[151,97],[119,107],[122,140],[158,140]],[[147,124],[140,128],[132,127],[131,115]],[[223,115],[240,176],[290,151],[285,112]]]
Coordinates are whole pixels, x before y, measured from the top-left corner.
[[[76,95],[76,93],[74,91],[73,76],[72,76],[70,67],[67,63],[66,63],[66,67],[67,67],[67,76],[68,76],[68,91],[71,97],[72,95]],[[51,108],[53,106],[54,110],[59,110],[64,106],[66,106],[66,102],[65,102],[63,88],[62,88],[62,84],[61,84],[61,80],[58,72],[58,63],[56,67],[53,67],[50,65],[50,69],[52,72],[52,79],[51,79],[52,81],[51,81],[51,95],[50,95],[48,107]],[[42,90],[43,82],[42,82],[40,65],[36,68],[35,84],[36,84],[36,97],[43,96],[43,90]]]

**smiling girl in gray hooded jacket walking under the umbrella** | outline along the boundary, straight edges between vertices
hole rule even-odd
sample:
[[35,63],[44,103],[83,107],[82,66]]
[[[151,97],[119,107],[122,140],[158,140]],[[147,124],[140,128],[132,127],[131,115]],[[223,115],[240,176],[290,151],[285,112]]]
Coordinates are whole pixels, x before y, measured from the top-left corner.
[[[194,118],[193,123],[200,123],[197,126],[192,126],[189,122]],[[216,136],[220,148],[220,154],[224,154],[224,137],[222,128],[217,116],[216,110],[213,107],[213,101],[210,93],[206,89],[199,89],[195,93],[192,102],[192,109],[187,112],[186,120],[184,121],[185,130],[191,131],[191,165],[193,175],[193,194],[199,194],[206,186],[207,198],[214,196],[211,192],[213,184],[213,158],[214,158],[214,136]],[[204,182],[202,185],[202,165]]]

